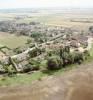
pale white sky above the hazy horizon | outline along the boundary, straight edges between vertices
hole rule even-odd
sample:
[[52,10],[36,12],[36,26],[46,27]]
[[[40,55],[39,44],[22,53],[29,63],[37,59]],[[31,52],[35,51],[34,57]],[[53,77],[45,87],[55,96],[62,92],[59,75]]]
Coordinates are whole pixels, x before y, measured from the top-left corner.
[[92,8],[93,0],[0,0],[0,9],[38,7]]

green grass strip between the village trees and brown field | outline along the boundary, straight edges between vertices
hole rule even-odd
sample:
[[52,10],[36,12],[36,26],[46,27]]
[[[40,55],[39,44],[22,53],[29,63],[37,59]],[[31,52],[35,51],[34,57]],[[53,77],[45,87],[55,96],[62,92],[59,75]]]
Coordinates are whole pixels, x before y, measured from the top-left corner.
[[51,76],[51,75],[60,75],[66,71],[69,71],[73,68],[76,68],[77,65],[71,65],[66,68],[62,68],[61,70],[56,71],[48,71],[47,73],[43,72],[35,72],[32,74],[17,74],[13,77],[4,76],[0,78],[0,86],[17,86],[17,85],[29,85],[32,84],[36,80],[42,80],[42,78]]

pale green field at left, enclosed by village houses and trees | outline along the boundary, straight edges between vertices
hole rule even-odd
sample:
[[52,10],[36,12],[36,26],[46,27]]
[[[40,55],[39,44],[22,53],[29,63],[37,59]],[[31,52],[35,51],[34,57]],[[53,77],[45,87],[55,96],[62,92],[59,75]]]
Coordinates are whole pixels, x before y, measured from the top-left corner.
[[8,46],[9,48],[16,48],[18,46],[23,46],[28,37],[26,36],[15,36],[8,33],[0,32],[0,45]]

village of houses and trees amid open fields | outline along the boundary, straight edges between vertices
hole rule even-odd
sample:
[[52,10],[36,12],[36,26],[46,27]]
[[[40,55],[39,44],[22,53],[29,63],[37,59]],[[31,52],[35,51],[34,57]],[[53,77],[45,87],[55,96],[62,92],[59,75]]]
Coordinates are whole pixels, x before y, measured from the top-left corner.
[[[59,66],[62,67],[67,63],[77,62],[80,64],[89,56],[93,43],[92,28],[89,28],[86,32],[67,27],[47,26],[38,22],[19,24],[5,21],[0,22],[0,31],[17,36],[26,35],[31,37],[31,40],[28,40],[25,47],[13,50],[1,44],[1,72],[6,72],[6,69],[8,71],[9,66],[12,66],[15,72],[39,70],[39,67],[42,66],[40,62],[43,62],[43,60],[48,64],[43,66],[47,66],[49,69],[52,69],[53,66],[57,69]],[[6,51],[10,51],[12,54],[4,52],[3,49],[7,49]],[[71,58],[73,57],[72,54],[77,55]]]

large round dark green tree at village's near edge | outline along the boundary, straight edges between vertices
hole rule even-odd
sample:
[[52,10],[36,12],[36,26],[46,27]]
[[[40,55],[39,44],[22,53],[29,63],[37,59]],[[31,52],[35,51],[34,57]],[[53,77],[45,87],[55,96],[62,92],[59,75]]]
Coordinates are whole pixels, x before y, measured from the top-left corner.
[[52,56],[48,58],[47,69],[49,70],[60,69],[62,65],[63,65],[63,61],[59,57]]

